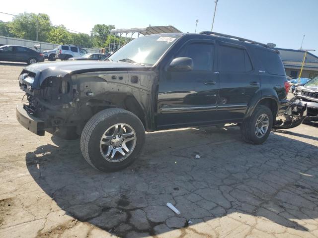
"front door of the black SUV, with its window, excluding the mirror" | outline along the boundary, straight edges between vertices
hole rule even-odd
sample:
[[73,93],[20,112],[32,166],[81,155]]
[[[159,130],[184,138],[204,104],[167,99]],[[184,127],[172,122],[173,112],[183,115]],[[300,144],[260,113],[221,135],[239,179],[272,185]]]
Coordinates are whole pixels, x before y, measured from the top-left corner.
[[219,77],[214,73],[214,41],[191,40],[178,51],[177,57],[193,60],[193,70],[170,72],[167,65],[160,71],[158,94],[158,128],[209,124],[217,109]]

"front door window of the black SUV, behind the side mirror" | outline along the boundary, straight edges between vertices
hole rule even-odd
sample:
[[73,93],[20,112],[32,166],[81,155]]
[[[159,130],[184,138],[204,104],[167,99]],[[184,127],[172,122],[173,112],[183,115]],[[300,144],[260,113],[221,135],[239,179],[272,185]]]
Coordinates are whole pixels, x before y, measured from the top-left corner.
[[192,43],[184,47],[177,57],[188,57],[193,60],[193,70],[211,71],[213,68],[214,45]]

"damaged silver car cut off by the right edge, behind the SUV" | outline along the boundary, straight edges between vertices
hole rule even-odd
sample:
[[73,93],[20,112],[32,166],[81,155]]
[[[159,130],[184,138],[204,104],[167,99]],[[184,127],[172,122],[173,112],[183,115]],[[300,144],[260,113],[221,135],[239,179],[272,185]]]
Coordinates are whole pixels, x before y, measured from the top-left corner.
[[318,77],[305,84],[296,84],[295,92],[300,100],[307,104],[309,116],[307,120],[318,122]]

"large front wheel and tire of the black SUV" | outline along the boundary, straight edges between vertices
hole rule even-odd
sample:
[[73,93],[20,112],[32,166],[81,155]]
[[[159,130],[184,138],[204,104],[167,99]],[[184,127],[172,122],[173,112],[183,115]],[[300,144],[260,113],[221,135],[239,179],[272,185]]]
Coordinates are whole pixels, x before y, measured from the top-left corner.
[[80,137],[84,159],[103,172],[122,170],[140,155],[145,143],[141,120],[124,109],[106,109],[89,119]]

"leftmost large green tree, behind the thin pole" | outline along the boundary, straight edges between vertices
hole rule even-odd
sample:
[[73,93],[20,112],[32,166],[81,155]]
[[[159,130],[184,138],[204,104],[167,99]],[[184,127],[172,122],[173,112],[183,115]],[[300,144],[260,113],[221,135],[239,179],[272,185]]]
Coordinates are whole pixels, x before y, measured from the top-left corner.
[[47,41],[52,27],[50,17],[44,13],[20,13],[9,23],[9,31],[14,37],[35,41],[37,26],[38,41]]

